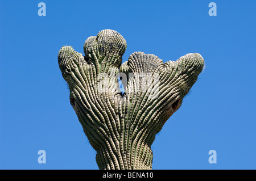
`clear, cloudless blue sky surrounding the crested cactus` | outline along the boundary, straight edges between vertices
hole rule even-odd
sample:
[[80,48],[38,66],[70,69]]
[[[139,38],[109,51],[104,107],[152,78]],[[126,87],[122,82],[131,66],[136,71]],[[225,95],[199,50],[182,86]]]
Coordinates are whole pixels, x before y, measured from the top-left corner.
[[[46,16],[38,3],[46,3]],[[210,2],[217,16],[209,16]],[[153,169],[256,169],[256,1],[0,1],[0,169],[98,169],[57,53],[112,29],[164,62],[206,68],[152,145]],[[46,150],[46,164],[38,151]],[[217,163],[208,162],[216,150]]]

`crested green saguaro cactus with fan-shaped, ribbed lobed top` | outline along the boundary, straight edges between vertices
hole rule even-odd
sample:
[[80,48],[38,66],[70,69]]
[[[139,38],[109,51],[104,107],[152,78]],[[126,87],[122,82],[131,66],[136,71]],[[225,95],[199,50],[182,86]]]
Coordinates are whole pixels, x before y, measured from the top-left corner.
[[59,67],[69,85],[71,105],[97,151],[98,167],[152,169],[155,134],[181,106],[204,59],[189,53],[163,63],[153,54],[135,52],[122,64],[125,50],[126,41],[118,32],[102,30],[85,41],[85,56],[62,47]]

